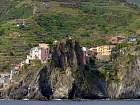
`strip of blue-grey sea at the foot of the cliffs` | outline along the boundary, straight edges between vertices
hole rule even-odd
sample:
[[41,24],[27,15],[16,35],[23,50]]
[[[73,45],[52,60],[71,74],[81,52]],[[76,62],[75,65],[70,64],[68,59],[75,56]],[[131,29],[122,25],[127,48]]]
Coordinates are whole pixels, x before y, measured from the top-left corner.
[[16,100],[2,100],[0,105],[140,105],[139,100],[61,100],[61,101],[16,101]]

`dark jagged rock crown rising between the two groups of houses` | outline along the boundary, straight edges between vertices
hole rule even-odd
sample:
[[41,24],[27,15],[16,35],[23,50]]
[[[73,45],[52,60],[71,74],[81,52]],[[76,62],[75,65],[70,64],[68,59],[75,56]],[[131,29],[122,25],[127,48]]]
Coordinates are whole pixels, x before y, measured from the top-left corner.
[[[75,58],[76,56],[76,58]],[[78,66],[84,66],[83,63],[83,51],[78,42],[73,42],[72,39],[61,42],[59,45],[55,45],[52,51],[52,60],[56,67],[65,69],[66,66],[73,66],[74,60],[76,60]]]

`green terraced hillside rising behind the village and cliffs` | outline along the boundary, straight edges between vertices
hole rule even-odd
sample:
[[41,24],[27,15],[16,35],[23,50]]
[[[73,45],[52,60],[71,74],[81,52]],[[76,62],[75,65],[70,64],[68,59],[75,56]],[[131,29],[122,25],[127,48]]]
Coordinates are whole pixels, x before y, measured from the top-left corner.
[[26,57],[38,43],[71,35],[85,46],[113,35],[140,34],[140,9],[123,0],[0,0],[0,70]]

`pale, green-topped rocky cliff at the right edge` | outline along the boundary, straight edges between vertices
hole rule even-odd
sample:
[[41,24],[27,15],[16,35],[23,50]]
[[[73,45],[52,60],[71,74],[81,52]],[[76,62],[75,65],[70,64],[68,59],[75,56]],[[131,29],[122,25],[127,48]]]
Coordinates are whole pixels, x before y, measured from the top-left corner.
[[121,50],[115,59],[117,82],[110,82],[108,93],[111,98],[134,99],[140,97],[140,56],[139,47]]

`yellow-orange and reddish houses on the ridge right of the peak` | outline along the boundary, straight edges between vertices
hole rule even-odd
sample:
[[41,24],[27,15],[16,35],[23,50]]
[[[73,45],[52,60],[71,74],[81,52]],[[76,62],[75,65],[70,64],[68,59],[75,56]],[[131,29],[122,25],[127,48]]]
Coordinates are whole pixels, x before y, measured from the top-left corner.
[[96,46],[92,48],[85,48],[86,49],[86,55],[88,53],[91,53],[97,60],[100,61],[109,61],[110,55],[112,54],[113,48],[116,47],[117,44],[120,43],[136,43],[137,42],[137,36],[136,35],[130,35],[128,37],[125,37],[123,35],[114,36],[110,39],[110,45],[102,45],[102,46]]

